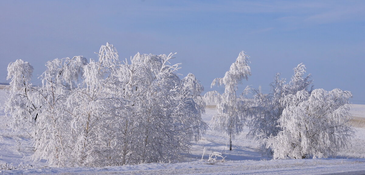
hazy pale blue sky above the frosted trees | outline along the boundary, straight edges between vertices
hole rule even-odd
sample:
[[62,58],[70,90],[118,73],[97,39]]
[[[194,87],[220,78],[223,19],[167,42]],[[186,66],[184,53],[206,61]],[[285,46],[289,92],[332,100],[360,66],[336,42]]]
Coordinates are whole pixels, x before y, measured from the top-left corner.
[[252,70],[242,86],[264,92],[303,62],[315,88],[365,104],[365,1],[0,1],[0,82],[16,59],[34,66],[37,84],[46,61],[97,59],[106,42],[120,59],[177,52],[178,72],[206,91],[242,50]]

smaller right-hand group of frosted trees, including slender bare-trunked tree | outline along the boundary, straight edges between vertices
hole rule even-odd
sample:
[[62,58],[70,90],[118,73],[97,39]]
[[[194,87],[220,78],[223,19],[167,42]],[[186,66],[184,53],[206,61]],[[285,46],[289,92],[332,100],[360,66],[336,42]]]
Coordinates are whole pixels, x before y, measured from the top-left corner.
[[[277,73],[270,84],[271,92],[247,87],[237,96],[238,84],[250,75],[248,56],[241,52],[214,85],[224,85],[224,93],[205,94],[208,102],[216,102],[217,112],[212,123],[231,137],[243,131],[247,137],[260,143],[261,149],[273,158],[327,158],[347,147],[354,135],[349,125],[351,92],[334,89],[330,92],[313,89],[311,74],[304,76],[306,67],[301,63],[294,68],[289,83]],[[245,94],[253,92],[253,98]]]

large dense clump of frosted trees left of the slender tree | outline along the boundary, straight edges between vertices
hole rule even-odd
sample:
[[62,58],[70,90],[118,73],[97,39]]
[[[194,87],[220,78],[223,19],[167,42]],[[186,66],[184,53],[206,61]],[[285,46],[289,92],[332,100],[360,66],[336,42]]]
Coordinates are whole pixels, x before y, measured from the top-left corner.
[[176,162],[207,125],[201,120],[203,86],[193,74],[180,79],[170,55],[136,54],[119,61],[109,43],[99,60],[84,57],[46,63],[41,87],[33,67],[8,66],[5,110],[12,128],[34,139],[34,160],[50,166],[118,166]]

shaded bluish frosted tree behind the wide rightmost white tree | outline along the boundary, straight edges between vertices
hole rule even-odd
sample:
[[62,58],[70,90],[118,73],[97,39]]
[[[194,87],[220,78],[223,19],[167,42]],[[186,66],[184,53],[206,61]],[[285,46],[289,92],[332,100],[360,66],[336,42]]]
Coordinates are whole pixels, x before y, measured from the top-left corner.
[[285,108],[284,98],[301,90],[311,93],[313,89],[311,74],[304,76],[305,73],[306,67],[300,63],[294,68],[294,75],[288,84],[285,84],[285,79],[280,78],[280,74],[277,73],[274,82],[270,84],[269,94],[263,94],[260,88],[254,89],[255,114],[248,123],[250,131],[247,136],[257,140],[262,151],[268,155],[273,152],[271,147],[267,147],[267,139],[277,136],[282,131],[278,125]]

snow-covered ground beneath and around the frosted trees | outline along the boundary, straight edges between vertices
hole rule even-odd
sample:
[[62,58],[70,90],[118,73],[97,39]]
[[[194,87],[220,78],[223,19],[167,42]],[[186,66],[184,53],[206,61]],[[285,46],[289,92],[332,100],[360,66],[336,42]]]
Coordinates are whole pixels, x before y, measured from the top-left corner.
[[[6,94],[0,90],[0,105]],[[207,106],[203,120],[207,123],[215,113],[214,106]],[[0,175],[1,174],[365,174],[365,105],[353,105],[351,122],[356,136],[351,146],[340,152],[336,159],[271,160],[262,156],[257,144],[245,137],[248,130],[233,140],[233,151],[228,151],[227,136],[208,129],[200,141],[191,149],[183,163],[140,164],[137,166],[103,168],[49,168],[47,163],[33,163],[23,157],[32,154],[31,137],[26,133],[12,133],[8,128],[10,120],[0,109]],[[203,161],[203,150],[206,149]],[[226,162],[208,164],[212,152],[220,152]],[[11,169],[11,170],[9,170]]]

